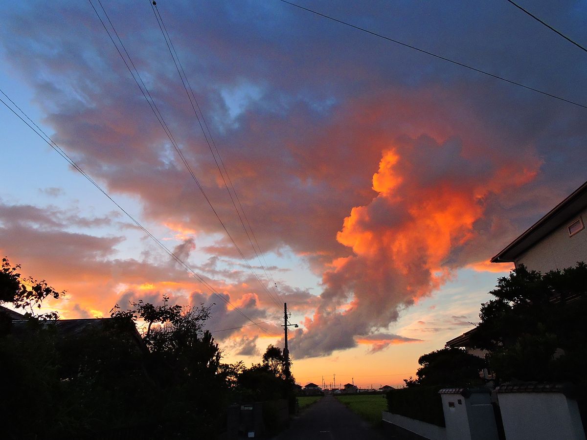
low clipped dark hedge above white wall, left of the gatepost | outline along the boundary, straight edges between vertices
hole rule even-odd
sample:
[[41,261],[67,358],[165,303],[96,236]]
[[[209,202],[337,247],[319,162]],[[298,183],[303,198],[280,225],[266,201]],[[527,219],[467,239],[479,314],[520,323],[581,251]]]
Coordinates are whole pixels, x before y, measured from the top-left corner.
[[441,387],[410,387],[387,392],[387,411],[444,427]]

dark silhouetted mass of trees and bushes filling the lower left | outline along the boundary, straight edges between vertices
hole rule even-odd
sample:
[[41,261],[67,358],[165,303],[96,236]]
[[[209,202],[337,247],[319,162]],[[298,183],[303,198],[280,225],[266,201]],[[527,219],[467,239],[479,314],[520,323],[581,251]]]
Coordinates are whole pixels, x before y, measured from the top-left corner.
[[[280,348],[269,346],[251,368],[221,362],[205,330],[210,306],[163,296],[161,304],[117,304],[109,319],[59,320],[33,312],[63,292],[45,280],[26,284],[4,258],[0,303],[27,313],[14,320],[0,310],[2,438],[214,439],[228,405],[292,400]],[[137,320],[147,324],[141,335]]]

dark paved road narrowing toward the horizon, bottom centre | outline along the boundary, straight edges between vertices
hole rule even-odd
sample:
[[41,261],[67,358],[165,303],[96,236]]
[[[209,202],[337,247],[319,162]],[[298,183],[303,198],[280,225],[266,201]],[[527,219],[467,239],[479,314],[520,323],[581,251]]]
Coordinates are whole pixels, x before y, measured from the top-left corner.
[[295,418],[290,427],[274,440],[383,440],[358,415],[331,395],[307,408]]

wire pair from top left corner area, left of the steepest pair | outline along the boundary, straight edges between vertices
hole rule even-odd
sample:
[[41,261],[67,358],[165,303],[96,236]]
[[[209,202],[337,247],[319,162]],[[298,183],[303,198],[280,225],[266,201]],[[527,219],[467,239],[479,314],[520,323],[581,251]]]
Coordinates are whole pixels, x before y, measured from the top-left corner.
[[[102,20],[102,17],[100,16],[100,14],[98,13],[98,11],[96,10],[95,6],[92,3],[92,0],[88,0],[90,5],[92,6],[92,9],[94,10],[94,12],[96,13],[96,16],[98,17],[98,19],[100,20],[100,23],[102,23],[102,26],[104,28],[104,30],[106,31],[106,33],[108,34],[110,40],[112,41],[114,47],[116,48],[117,52],[119,53],[120,57],[123,59],[124,65],[127,67],[127,69],[129,70],[131,76],[134,79],[134,82],[137,84],[137,86],[139,87],[139,89],[141,90],[141,93],[143,94],[143,97],[145,98],[145,100],[147,101],[147,103],[149,104],[149,107],[151,108],[151,110],[153,111],[153,113],[155,114],[155,116],[157,117],[157,120],[159,121],[159,123],[161,124],[161,127],[163,127],[163,130],[165,131],[167,137],[169,138],[171,144],[173,145],[174,149],[176,150],[177,154],[180,156],[181,161],[183,162],[185,168],[187,168],[188,172],[191,175],[192,180],[195,182],[195,184],[197,185],[198,189],[200,189],[200,192],[202,193],[202,195],[204,196],[205,201],[208,203],[208,205],[210,206],[210,208],[212,209],[212,212],[214,212],[214,215],[216,216],[218,222],[220,222],[222,228],[224,229],[224,231],[227,233],[228,238],[230,238],[230,241],[232,242],[232,244],[235,246],[235,248],[237,249],[239,255],[241,255],[241,258],[244,260],[244,262],[246,263],[246,265],[248,266],[249,270],[251,270],[251,272],[253,273],[253,275],[259,280],[257,274],[254,272],[254,269],[252,268],[252,266],[248,263],[248,260],[245,258],[244,253],[242,253],[241,249],[238,247],[237,243],[235,242],[234,238],[232,237],[231,233],[228,232],[228,229],[226,227],[226,225],[224,224],[224,222],[222,222],[222,219],[220,218],[220,215],[218,214],[218,212],[216,211],[216,209],[214,208],[214,205],[212,205],[212,202],[210,201],[210,198],[208,198],[207,194],[204,191],[204,188],[201,186],[200,182],[198,181],[198,179],[195,177],[195,174],[193,172],[193,170],[190,167],[190,164],[188,163],[187,159],[185,158],[183,151],[181,151],[181,148],[179,147],[179,145],[177,144],[175,138],[173,137],[173,134],[171,133],[170,128],[168,127],[166,121],[163,118],[163,115],[161,114],[161,112],[159,111],[156,102],[153,100],[153,97],[151,97],[151,94],[149,92],[149,89],[147,89],[146,85],[143,82],[143,79],[140,76],[139,71],[136,69],[136,67],[134,66],[134,62],[131,59],[128,51],[126,50],[126,47],[124,46],[122,39],[120,39],[120,36],[118,35],[118,32],[116,31],[116,28],[114,27],[112,21],[110,21],[110,17],[108,16],[106,9],[104,9],[104,6],[102,5],[101,0],[98,0],[98,3],[100,4],[100,8],[102,8],[102,11],[104,12],[104,15],[106,16],[107,21],[109,22],[110,26],[112,27],[112,30],[114,32],[114,35],[116,35],[117,40],[120,43],[120,46],[122,47],[124,53],[126,54],[126,56],[129,59],[130,64],[133,66],[134,69],[134,73],[133,70],[130,68],[129,63],[127,63],[126,59],[124,58],[124,56],[122,55],[122,52],[120,51],[119,47],[116,45],[116,42],[114,42],[114,38],[112,36],[112,34],[110,33],[109,29],[106,26],[106,23],[104,23],[104,21]],[[141,84],[143,84],[143,87],[141,87],[141,85],[139,84],[139,81],[136,79],[136,76],[139,78]],[[149,98],[147,98],[147,95],[149,96]],[[149,100],[150,99],[150,100]],[[261,282],[259,280],[259,282]],[[261,283],[261,285],[265,288],[266,287]],[[269,295],[271,296],[271,295]],[[274,300],[275,304],[279,307],[280,304],[278,302],[276,302],[276,300]]]

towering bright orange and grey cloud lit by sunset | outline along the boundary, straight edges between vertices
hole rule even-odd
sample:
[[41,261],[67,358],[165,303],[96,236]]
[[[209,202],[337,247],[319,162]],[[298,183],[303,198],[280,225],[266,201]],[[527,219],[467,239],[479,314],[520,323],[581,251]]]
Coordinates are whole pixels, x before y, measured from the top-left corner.
[[[465,158],[457,138],[403,138],[386,148],[373,175],[376,196],[350,209],[336,235],[352,254],[323,273],[321,304],[306,333],[292,341],[298,356],[367,343],[401,307],[450,280],[467,265],[461,260],[483,235],[480,228],[494,221],[486,200],[534,178],[539,161],[524,162],[491,167]],[[375,352],[396,340],[369,343]]]

